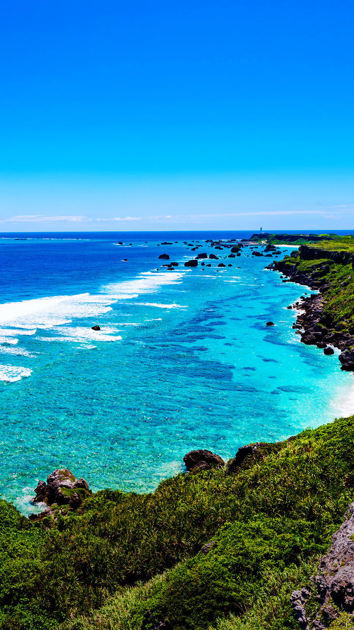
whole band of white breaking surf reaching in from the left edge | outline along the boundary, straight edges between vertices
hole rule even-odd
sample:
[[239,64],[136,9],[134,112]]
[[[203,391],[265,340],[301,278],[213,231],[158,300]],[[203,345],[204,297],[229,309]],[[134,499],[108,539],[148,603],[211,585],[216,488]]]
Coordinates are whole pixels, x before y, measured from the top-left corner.
[[[74,325],[72,320],[97,318],[111,311],[111,305],[120,300],[154,293],[163,285],[181,284],[183,275],[181,272],[142,272],[132,280],[102,287],[100,294],[55,295],[0,304],[0,354],[35,358],[35,355],[23,348],[11,352],[10,348],[18,343],[18,336],[22,335],[42,342],[82,343],[90,348],[92,345],[89,346],[89,343],[92,341],[120,341],[122,336],[117,334],[120,332],[118,328],[101,326],[100,331],[93,331],[90,326]],[[146,303],[145,306],[185,308],[180,304]],[[140,324],[129,322],[119,325],[124,328]],[[40,331],[46,331],[47,334],[40,335]],[[30,376],[31,372],[28,367],[0,364],[0,381],[20,381],[21,378]]]

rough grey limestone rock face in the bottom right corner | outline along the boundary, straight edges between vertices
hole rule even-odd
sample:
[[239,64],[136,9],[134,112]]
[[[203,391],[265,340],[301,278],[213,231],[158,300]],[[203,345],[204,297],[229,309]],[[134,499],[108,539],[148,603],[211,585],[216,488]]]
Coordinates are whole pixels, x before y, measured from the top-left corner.
[[354,616],[354,503],[345,521],[332,537],[328,554],[319,563],[316,576],[302,590],[294,591],[291,603],[301,630],[325,630],[341,613]]

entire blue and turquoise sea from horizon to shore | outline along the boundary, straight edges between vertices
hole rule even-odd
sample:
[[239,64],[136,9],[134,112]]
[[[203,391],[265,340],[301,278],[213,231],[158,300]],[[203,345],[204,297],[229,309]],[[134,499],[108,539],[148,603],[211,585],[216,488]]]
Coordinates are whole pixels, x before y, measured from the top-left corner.
[[93,490],[151,491],[188,450],[227,458],[354,410],[337,355],[292,329],[287,306],[308,289],[250,251],[232,267],[185,268],[198,252],[183,241],[218,235],[157,246],[165,236],[1,239],[0,492],[23,513],[60,466]]

